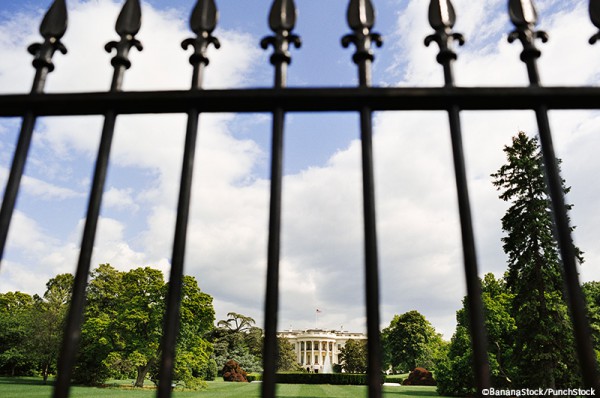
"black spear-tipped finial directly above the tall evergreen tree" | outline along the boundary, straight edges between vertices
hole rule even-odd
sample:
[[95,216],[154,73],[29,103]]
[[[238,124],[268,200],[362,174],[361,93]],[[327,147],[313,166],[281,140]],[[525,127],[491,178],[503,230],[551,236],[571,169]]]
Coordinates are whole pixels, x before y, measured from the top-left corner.
[[521,41],[523,44],[521,60],[523,62],[539,58],[542,53],[535,46],[535,39],[541,39],[545,43],[548,41],[548,34],[541,30],[534,30],[537,23],[537,11],[532,0],[509,0],[508,13],[516,28],[508,35],[508,42],[512,43],[517,39]]

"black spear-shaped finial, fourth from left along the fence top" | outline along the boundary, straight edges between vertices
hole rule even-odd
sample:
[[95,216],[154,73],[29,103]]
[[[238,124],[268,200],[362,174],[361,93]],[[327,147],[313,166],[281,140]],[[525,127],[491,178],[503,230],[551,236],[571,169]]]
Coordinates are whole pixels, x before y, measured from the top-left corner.
[[300,48],[302,41],[298,35],[292,33],[296,25],[296,5],[294,0],[275,0],[269,13],[269,27],[275,33],[273,36],[264,37],[260,41],[260,46],[267,49],[269,45],[273,46],[274,52],[271,55],[271,64],[277,66],[289,64],[292,57],[288,51],[290,44]]

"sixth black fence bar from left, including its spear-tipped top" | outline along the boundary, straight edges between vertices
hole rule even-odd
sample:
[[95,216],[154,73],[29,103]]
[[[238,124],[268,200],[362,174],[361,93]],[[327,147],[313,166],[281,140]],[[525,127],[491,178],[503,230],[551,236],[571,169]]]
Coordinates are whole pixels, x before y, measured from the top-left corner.
[[[432,0],[429,4],[429,24],[435,33],[425,38],[425,45],[436,42],[440,47],[436,59],[444,69],[444,83],[446,87],[454,86],[454,72],[452,63],[456,60],[456,53],[452,50],[452,41],[464,44],[464,37],[460,33],[452,33],[456,22],[456,14],[450,0]],[[481,284],[477,266],[475,250],[475,237],[473,234],[473,221],[462,144],[462,132],[459,108],[457,105],[448,107],[450,123],[450,140],[454,157],[454,175],[456,178],[456,193],[458,196],[458,211],[460,215],[460,228],[464,256],[465,278],[467,285],[467,303],[469,308],[469,326],[473,345],[473,374],[477,395],[490,387],[490,366],[487,358],[487,336],[483,317],[483,302],[481,299]]]

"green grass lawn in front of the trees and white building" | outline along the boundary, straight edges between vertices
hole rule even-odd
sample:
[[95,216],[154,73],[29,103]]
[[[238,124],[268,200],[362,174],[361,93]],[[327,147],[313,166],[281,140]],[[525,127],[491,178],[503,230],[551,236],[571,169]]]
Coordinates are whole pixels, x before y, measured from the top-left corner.
[[[384,397],[438,397],[435,387],[384,386]],[[0,377],[0,397],[2,398],[50,398],[52,387],[43,385],[36,378]],[[124,390],[119,388],[72,387],[74,398],[153,398],[156,392],[150,388]],[[208,383],[202,391],[175,391],[175,398],[259,398],[260,383]],[[365,386],[333,386],[328,384],[279,384],[278,397],[302,398],[351,398],[366,397]]]

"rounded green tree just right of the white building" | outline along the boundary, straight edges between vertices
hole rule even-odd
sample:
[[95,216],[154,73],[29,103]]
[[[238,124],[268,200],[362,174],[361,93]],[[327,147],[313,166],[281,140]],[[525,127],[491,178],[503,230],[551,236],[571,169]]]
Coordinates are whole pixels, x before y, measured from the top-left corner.
[[382,342],[387,364],[401,371],[432,369],[444,350],[441,335],[415,310],[395,315],[382,331]]

